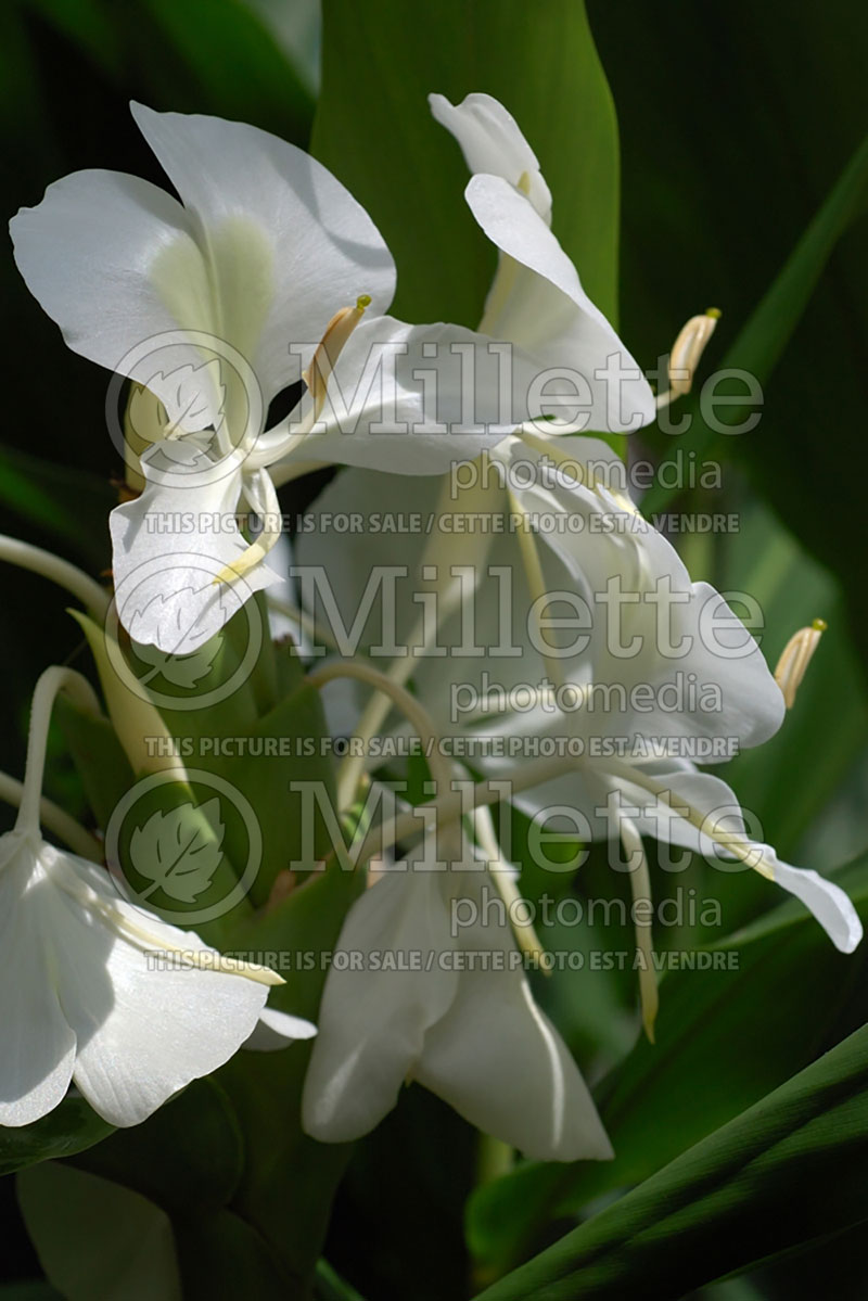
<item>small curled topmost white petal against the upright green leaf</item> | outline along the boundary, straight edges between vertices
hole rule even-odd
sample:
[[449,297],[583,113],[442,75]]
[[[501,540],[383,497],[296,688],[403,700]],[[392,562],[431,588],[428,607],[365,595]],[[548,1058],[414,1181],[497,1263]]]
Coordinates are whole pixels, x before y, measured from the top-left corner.
[[489,172],[518,185],[530,183],[528,198],[544,221],[552,221],[552,193],[543,180],[536,154],[513,114],[492,95],[466,95],[450,104],[445,95],[428,95],[431,112],[452,131],[471,172]]

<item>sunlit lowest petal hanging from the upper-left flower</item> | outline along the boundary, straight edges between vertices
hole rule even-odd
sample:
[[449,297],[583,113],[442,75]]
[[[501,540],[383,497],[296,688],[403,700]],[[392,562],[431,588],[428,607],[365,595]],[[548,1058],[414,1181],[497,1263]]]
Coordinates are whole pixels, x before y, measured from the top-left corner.
[[234,518],[242,477],[232,458],[212,463],[177,440],[148,449],[142,471],[143,493],[109,516],[118,618],[134,641],[190,654],[278,578],[260,561],[230,584],[215,582],[249,546]]

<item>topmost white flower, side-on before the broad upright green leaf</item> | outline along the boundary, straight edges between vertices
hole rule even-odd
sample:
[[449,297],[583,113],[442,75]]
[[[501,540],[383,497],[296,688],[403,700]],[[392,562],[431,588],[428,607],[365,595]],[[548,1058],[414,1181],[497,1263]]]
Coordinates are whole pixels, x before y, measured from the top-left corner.
[[[630,432],[656,418],[651,386],[552,233],[552,194],[513,116],[491,95],[453,105],[429,95],[435,118],[452,131],[474,173],[465,198],[500,250],[480,330],[510,340],[552,375],[547,393],[580,397],[582,428]],[[567,376],[576,380],[571,384]],[[535,415],[539,412],[531,412]]]

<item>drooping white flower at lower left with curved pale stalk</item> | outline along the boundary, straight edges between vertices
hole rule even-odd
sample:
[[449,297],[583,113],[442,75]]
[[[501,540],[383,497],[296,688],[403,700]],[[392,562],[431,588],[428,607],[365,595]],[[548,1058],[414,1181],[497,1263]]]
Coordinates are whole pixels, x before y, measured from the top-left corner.
[[0,837],[0,1124],[52,1111],[70,1084],[115,1125],[135,1125],[239,1047],[315,1033],[265,1008],[265,967],[224,958],[193,932],[124,900],[109,874],[46,843],[39,794],[51,703],[90,688],[39,679],[21,809]]

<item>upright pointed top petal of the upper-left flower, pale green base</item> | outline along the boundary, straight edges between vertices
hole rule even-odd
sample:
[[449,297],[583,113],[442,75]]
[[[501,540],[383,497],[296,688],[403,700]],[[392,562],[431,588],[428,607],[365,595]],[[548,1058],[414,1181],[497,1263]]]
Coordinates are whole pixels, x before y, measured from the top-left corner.
[[[133,104],[208,251],[221,337],[254,366],[265,397],[307,366],[341,307],[387,310],[394,264],[364,208],[308,154],[243,122]],[[217,330],[220,333],[220,329]]]

